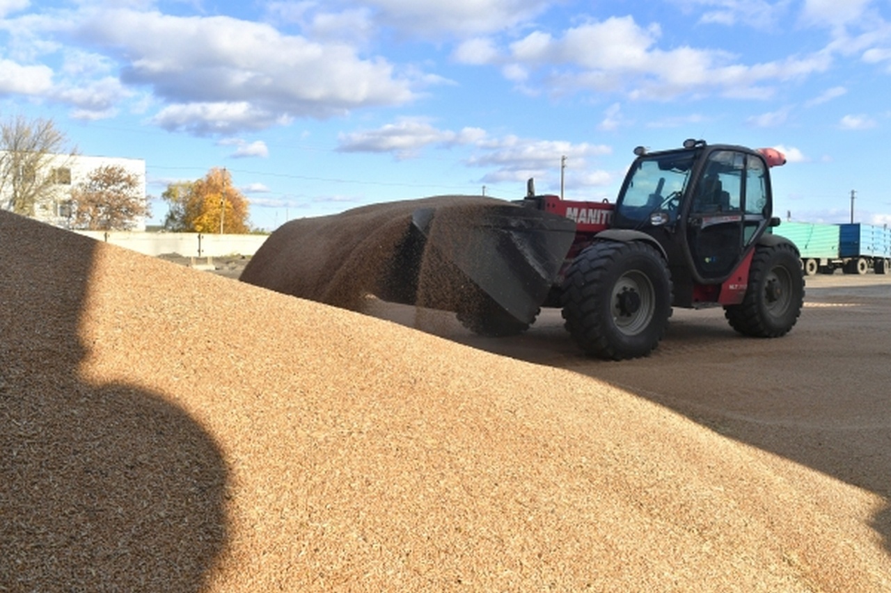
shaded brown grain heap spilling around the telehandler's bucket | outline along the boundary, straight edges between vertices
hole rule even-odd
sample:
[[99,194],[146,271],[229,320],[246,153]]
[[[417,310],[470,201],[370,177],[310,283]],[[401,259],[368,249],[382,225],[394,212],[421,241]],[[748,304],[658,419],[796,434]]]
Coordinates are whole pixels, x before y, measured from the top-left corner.
[[[490,207],[506,205],[502,199],[481,196],[434,196],[292,220],[257,250],[241,281],[353,311],[364,311],[366,296],[374,295],[479,317],[497,305],[451,257],[443,256],[441,248],[461,254],[488,253],[474,260],[481,264],[472,266],[477,280],[485,278],[503,288],[491,277],[491,272],[503,267],[501,261],[491,253],[491,245],[480,244],[480,235],[468,222],[483,220],[484,213],[491,213]],[[419,208],[437,210],[425,230],[429,240],[412,228],[413,213]],[[425,247],[429,244],[438,248]],[[534,305],[541,300],[544,293]]]

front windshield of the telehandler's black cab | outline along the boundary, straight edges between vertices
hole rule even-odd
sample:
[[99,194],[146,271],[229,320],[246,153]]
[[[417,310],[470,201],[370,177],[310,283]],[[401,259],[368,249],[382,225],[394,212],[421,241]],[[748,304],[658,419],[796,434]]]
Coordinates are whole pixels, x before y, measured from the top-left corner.
[[[693,167],[692,151],[653,155],[635,161],[624,193],[619,196],[617,221],[620,225],[643,223],[650,214],[666,210],[671,220],[677,215],[684,188]],[[620,222],[624,219],[625,223]]]

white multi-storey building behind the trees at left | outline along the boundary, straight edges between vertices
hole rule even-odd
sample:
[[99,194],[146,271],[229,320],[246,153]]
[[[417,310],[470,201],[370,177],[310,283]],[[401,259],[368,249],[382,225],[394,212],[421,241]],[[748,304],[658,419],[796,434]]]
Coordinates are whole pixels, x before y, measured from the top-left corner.
[[[45,171],[53,178],[49,191],[34,205],[34,217],[44,223],[69,228],[71,219],[71,190],[84,183],[99,167],[122,167],[137,179],[137,195],[145,198],[145,161],[142,158],[87,157],[84,155],[52,155]],[[145,219],[135,221],[133,231],[145,231]]]

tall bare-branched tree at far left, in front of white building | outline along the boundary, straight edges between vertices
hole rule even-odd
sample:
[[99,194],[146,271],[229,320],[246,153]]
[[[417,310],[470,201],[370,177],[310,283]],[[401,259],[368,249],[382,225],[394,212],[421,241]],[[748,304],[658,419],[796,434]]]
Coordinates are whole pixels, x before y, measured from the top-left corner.
[[52,195],[54,171],[69,167],[76,149],[52,119],[24,116],[0,122],[0,207],[32,216],[35,205]]

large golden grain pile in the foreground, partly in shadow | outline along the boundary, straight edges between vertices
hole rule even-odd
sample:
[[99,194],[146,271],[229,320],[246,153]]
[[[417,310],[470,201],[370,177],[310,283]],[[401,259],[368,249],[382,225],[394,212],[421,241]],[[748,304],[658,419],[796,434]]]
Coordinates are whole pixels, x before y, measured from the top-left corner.
[[0,590],[891,587],[788,462],[600,381],[4,212],[0,261]]

